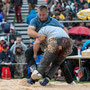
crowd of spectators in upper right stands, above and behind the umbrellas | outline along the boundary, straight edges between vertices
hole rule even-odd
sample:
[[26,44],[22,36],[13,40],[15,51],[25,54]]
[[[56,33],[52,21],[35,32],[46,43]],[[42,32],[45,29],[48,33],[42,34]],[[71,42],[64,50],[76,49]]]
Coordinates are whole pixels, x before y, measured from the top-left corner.
[[[86,0],[48,0],[50,15],[57,20],[79,20],[77,13],[80,10],[90,8]],[[85,23],[64,23],[70,29],[74,26],[86,26]],[[89,25],[87,25],[89,27]]]

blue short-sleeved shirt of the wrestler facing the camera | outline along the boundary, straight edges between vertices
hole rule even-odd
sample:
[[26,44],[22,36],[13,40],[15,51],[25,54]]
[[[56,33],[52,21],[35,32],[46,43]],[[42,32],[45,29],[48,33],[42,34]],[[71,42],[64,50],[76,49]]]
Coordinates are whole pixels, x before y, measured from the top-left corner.
[[42,22],[37,16],[31,20],[30,26],[34,26],[37,32],[44,26],[56,26],[56,27],[64,28],[64,26],[58,20],[50,16],[48,16],[48,19],[45,22]]

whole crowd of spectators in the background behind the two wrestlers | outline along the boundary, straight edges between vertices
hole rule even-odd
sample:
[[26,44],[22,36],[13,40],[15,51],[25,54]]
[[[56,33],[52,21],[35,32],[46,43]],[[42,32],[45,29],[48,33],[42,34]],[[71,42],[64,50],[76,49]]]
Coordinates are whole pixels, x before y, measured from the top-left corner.
[[[28,0],[28,3],[29,3],[29,0]],[[22,4],[23,4],[22,0],[0,0],[0,22],[7,21],[6,17],[8,17],[10,12],[13,12],[13,13],[15,12],[17,23],[23,22],[22,15],[21,15]],[[37,16],[37,13],[35,10],[36,2],[35,2],[35,5],[32,5],[32,8],[30,5],[31,4],[29,3],[29,15],[27,16],[27,21],[26,21],[28,25],[30,24],[31,19]],[[88,3],[86,0],[48,0],[47,6],[49,8],[49,14],[59,21],[79,20],[77,17],[77,12],[83,9],[90,8],[90,3]],[[19,13],[19,17],[18,17],[18,13]],[[89,25],[86,25],[86,23],[84,22],[82,23],[73,22],[73,23],[63,23],[63,24],[68,29],[79,25],[90,27]],[[5,40],[4,37],[0,37],[0,63],[2,64],[3,63],[9,63],[9,64],[26,63],[25,51],[27,50],[28,47],[23,43],[20,33],[16,32],[15,27],[12,25],[10,26],[10,33],[8,34],[8,36],[9,36],[9,45],[7,44],[7,41]],[[31,40],[30,45],[33,45],[33,43],[34,41]],[[78,47],[82,48],[82,46],[83,46],[82,40],[80,38],[77,39],[75,46],[73,47],[73,53],[71,55],[77,55]],[[12,56],[8,55],[9,53],[12,53],[11,54]],[[4,54],[6,55],[6,57],[5,57],[5,61],[3,62]],[[71,69],[72,75],[75,76],[73,70],[75,67],[78,67],[78,60],[76,62],[69,62],[69,60],[67,60],[67,63]],[[73,67],[72,67],[72,64],[73,64]],[[23,73],[26,70],[25,65],[16,65],[15,69],[16,71],[14,76],[13,76],[14,69],[11,70],[12,77],[18,77],[18,75],[19,77],[25,77]],[[0,71],[1,71],[1,67],[0,67]],[[58,73],[58,76],[61,76],[60,69],[57,73]]]

